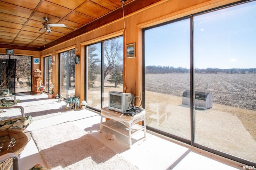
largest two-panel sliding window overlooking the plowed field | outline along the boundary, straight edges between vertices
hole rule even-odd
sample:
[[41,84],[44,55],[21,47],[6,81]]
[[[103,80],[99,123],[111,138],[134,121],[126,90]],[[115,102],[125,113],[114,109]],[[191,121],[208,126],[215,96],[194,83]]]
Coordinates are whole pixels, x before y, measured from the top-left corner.
[[255,11],[251,1],[144,29],[148,129],[255,165]]

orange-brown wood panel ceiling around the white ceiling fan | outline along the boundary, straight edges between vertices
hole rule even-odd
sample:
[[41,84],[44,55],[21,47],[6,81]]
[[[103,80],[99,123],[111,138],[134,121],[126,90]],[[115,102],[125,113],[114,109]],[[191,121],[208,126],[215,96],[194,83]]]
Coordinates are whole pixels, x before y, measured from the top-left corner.
[[[125,15],[158,1],[127,0]],[[44,17],[66,27],[40,32]],[[0,0],[0,47],[42,51],[121,17],[120,0]]]

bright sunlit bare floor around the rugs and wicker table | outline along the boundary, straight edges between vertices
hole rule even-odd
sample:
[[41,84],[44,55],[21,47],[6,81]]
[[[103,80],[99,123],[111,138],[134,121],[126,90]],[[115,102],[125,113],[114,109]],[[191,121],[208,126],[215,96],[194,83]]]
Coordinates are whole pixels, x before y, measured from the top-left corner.
[[[65,103],[56,102],[56,99],[48,99],[47,95],[17,95],[17,99],[24,102],[19,106],[24,106],[25,113],[32,113],[33,105],[38,101],[44,102],[51,110],[52,117],[46,115],[34,117],[33,123],[27,128],[28,131],[49,127],[59,123],[72,121],[81,130],[87,131],[96,139],[110,147],[118,154],[124,156],[140,170],[237,170],[243,169],[243,164],[223,158],[221,156],[196,149],[190,145],[180,143],[170,138],[166,138],[147,130],[146,138],[143,131],[132,138],[132,148],[128,148],[128,137],[114,132],[106,127],[100,133],[100,115],[90,109],[78,109],[77,111],[61,112],[56,108],[64,107]],[[29,103],[26,103],[29,102]],[[33,103],[34,102],[34,103]],[[59,106],[57,106],[59,105]],[[60,106],[62,105],[62,106]],[[36,110],[35,112],[40,112]],[[52,113],[52,110],[58,113]],[[112,132],[116,135],[114,141],[106,139],[106,133]],[[35,164],[44,165],[40,153],[31,139],[28,145],[20,154],[20,170],[28,170]],[[45,165],[44,165],[45,166]]]

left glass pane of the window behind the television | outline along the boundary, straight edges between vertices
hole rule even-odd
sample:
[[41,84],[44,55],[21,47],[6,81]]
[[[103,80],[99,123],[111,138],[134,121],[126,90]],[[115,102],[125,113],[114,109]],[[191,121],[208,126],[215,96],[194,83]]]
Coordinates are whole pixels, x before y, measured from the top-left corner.
[[101,109],[101,43],[86,47],[87,104]]

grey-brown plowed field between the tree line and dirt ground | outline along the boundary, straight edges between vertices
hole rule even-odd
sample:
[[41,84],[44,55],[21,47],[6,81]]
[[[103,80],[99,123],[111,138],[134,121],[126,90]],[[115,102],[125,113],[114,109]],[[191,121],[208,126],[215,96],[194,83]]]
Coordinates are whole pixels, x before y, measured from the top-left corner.
[[[189,74],[146,74],[146,91],[182,96]],[[194,89],[212,94],[213,103],[256,111],[256,75],[195,74]]]

